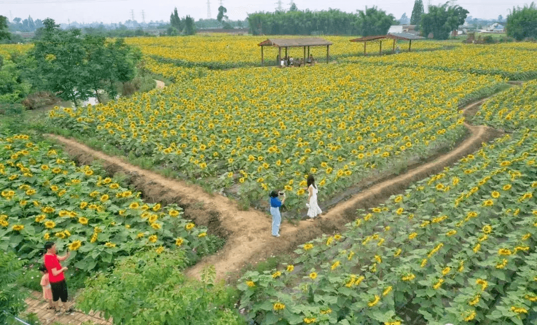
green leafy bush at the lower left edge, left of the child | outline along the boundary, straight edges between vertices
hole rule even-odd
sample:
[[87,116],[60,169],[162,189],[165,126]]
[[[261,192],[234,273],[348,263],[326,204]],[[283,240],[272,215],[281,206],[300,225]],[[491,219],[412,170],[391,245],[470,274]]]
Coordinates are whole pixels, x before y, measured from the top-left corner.
[[23,291],[16,284],[22,273],[23,262],[13,252],[0,254],[0,324],[8,323],[8,315],[18,315],[26,307]]

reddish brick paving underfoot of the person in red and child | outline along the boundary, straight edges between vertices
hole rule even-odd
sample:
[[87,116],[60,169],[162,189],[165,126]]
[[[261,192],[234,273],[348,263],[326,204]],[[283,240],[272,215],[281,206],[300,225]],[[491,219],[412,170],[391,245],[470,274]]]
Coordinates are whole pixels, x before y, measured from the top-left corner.
[[24,314],[21,315],[23,320],[24,315],[35,313],[42,325],[53,324],[54,322],[72,325],[80,325],[83,322],[86,322],[86,324],[112,325],[112,319],[107,321],[99,317],[96,312],[84,314],[81,311],[75,311],[70,314],[56,315],[54,310],[47,309],[48,302],[43,299],[43,294],[38,291],[32,291],[30,293],[30,296],[26,298],[26,304],[28,307]]

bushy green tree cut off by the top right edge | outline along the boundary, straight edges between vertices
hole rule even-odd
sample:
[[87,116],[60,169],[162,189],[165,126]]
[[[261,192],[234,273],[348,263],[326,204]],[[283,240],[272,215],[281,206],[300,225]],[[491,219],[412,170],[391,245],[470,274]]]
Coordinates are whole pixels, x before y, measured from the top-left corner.
[[532,2],[524,8],[514,8],[507,16],[507,36],[517,41],[525,38],[537,39],[537,6]]

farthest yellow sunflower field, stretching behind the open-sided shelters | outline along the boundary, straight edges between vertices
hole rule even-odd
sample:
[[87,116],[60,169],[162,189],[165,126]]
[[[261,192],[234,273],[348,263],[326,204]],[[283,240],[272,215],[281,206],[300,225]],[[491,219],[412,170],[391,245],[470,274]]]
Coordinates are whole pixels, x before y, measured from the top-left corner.
[[[228,69],[260,65],[261,49],[258,44],[267,38],[293,38],[293,36],[200,34],[188,37],[127,38],[125,42],[139,47],[144,57],[152,58],[159,63],[170,63],[184,68]],[[352,36],[323,36],[323,38],[333,43],[330,46],[330,58],[332,60],[364,53],[362,43],[350,42],[351,39],[354,39]],[[402,49],[405,48],[404,44],[400,44]],[[366,53],[379,53],[379,46],[379,43],[368,42]],[[460,46],[460,44],[424,41],[416,42],[412,45],[412,50],[437,50],[454,46]],[[383,48],[391,49],[391,42],[383,42]],[[266,64],[275,64],[278,49],[265,47],[264,51]],[[289,48],[288,54],[300,58],[303,56],[303,49]],[[319,63],[324,62],[326,48],[322,46],[310,47],[310,54]],[[283,50],[282,55],[284,55]]]

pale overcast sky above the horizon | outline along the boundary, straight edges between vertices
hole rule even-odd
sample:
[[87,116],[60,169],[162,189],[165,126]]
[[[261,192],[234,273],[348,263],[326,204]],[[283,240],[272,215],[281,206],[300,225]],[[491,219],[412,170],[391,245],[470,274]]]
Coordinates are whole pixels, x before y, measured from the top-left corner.
[[[209,0],[211,18],[216,18],[220,1]],[[289,0],[282,0],[282,8],[289,8]],[[423,0],[427,4],[440,4],[438,0]],[[377,6],[379,9],[391,13],[399,19],[405,12],[410,18],[414,0],[296,0],[294,1],[299,10],[310,9],[327,10],[339,9],[345,12],[363,10],[366,6]],[[524,6],[531,0],[456,0],[453,3],[462,6],[474,18],[496,19],[498,15],[504,18],[509,14],[513,6]],[[222,0],[222,5],[228,10],[229,19],[245,19],[248,13],[256,11],[274,11],[278,7],[278,0]],[[131,19],[145,20],[170,20],[173,8],[177,7],[179,17],[187,14],[195,20],[207,18],[207,0],[0,0],[0,15],[13,18],[27,18],[28,15],[35,19],[53,18],[56,23],[78,21],[79,23],[91,23],[103,21],[104,23],[125,22]],[[143,11],[143,17],[142,17]],[[426,9],[425,9],[426,11]]]

